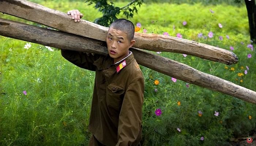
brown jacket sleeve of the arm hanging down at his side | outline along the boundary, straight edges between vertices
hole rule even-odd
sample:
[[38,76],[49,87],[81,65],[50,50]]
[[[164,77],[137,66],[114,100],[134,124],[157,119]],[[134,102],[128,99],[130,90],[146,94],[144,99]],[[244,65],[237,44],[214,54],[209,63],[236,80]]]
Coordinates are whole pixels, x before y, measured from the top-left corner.
[[116,146],[137,146],[142,132],[144,78],[137,77],[128,86],[121,107]]

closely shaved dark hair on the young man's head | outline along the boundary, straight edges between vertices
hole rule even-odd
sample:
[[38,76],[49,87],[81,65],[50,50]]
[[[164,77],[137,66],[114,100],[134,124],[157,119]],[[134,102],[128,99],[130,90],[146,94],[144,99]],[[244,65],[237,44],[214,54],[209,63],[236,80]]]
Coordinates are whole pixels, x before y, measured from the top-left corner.
[[109,28],[126,32],[129,41],[132,41],[134,37],[134,25],[127,19],[117,19],[110,25]]

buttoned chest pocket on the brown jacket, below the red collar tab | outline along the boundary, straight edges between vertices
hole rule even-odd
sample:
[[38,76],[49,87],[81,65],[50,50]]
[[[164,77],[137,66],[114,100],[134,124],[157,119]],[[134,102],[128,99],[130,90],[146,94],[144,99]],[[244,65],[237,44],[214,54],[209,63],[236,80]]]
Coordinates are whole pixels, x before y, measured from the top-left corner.
[[[124,99],[124,88],[109,84],[106,91],[106,102],[113,113],[119,112]],[[118,114],[118,113],[116,113]]]

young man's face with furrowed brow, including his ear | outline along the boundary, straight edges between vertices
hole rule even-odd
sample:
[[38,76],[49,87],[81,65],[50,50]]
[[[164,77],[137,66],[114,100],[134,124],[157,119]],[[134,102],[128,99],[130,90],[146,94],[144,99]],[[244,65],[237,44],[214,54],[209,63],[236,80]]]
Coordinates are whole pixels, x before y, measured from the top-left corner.
[[106,38],[108,53],[114,58],[114,63],[125,58],[129,54],[129,48],[133,46],[135,40],[129,41],[127,32],[109,28]]

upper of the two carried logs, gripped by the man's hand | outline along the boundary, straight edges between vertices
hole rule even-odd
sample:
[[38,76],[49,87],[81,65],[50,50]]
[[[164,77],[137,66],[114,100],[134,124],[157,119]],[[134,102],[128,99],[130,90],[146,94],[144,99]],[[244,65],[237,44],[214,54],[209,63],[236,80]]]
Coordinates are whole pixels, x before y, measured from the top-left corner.
[[[0,0],[0,12],[100,41],[106,40],[108,32],[107,27],[86,20],[75,23],[66,13],[26,0]],[[187,39],[135,33],[135,40],[134,47],[144,50],[188,54],[227,65],[238,62],[238,57],[231,51]]]

